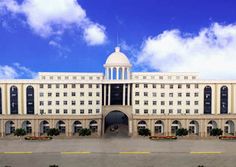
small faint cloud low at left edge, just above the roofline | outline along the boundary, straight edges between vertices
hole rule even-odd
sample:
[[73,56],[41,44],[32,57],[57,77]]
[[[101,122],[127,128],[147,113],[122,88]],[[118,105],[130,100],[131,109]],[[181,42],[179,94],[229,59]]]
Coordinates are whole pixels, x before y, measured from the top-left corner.
[[19,63],[13,65],[0,65],[0,79],[37,78],[38,73]]

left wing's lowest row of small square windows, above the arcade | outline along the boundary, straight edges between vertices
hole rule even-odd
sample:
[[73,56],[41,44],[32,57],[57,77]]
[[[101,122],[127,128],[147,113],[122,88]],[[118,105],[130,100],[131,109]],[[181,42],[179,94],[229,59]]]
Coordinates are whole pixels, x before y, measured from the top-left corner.
[[[71,111],[71,114],[77,114],[77,112],[78,112],[76,109],[72,109],[70,111]],[[47,114],[52,114],[52,113],[53,113],[52,109],[48,109],[47,110]],[[62,113],[63,114],[70,114],[68,109],[64,109],[64,110],[56,109],[55,113],[56,114],[62,114]],[[84,114],[84,113],[85,113],[84,109],[80,109],[79,110],[79,114]],[[89,114],[94,114],[94,113],[99,114],[100,113],[100,109],[96,109],[96,110],[88,109],[88,113]],[[40,114],[46,114],[45,110],[44,109],[40,109]]]

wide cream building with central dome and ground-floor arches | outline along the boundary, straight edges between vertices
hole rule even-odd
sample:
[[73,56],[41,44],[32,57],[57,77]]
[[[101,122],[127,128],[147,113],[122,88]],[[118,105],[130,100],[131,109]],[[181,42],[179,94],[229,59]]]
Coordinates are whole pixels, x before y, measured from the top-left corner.
[[[90,128],[101,136],[124,124],[171,135],[180,128],[206,137],[212,128],[235,134],[236,81],[201,80],[196,73],[131,72],[117,47],[103,73],[39,73],[38,79],[0,81],[0,134],[24,128],[43,135],[49,128],[72,136]],[[112,116],[113,115],[113,116]]]

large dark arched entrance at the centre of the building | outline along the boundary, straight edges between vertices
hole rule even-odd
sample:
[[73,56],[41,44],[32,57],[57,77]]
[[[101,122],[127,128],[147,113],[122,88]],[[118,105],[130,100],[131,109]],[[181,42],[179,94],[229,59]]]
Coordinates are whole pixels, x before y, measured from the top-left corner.
[[126,137],[129,135],[128,116],[121,111],[111,111],[104,119],[105,137]]

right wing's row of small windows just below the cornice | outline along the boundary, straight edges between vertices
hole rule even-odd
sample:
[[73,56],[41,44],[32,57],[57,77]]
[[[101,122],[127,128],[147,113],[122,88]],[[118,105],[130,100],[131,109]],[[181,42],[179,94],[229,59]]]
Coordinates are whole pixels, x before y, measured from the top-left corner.
[[[141,88],[140,85],[143,85],[143,88],[148,88],[149,84],[135,84],[135,88]],[[174,84],[161,84],[160,87],[161,89],[165,89],[167,88],[167,86],[169,86],[170,89],[174,88]],[[181,89],[183,88],[184,84],[177,84],[177,88]],[[199,85],[198,84],[194,84],[194,88],[198,89]],[[152,84],[152,88],[157,88],[157,84]],[[185,84],[185,88],[190,89],[191,88],[191,84]]]

